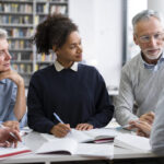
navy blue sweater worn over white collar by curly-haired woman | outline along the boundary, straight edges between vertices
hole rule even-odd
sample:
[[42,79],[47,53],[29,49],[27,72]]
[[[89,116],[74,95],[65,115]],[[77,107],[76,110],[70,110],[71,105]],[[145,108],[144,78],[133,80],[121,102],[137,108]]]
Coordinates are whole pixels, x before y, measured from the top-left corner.
[[101,128],[114,114],[102,75],[94,67],[84,65],[78,66],[78,72],[71,69],[58,72],[54,65],[35,72],[30,83],[27,107],[30,128],[48,133],[58,124],[52,113],[71,128],[82,122]]

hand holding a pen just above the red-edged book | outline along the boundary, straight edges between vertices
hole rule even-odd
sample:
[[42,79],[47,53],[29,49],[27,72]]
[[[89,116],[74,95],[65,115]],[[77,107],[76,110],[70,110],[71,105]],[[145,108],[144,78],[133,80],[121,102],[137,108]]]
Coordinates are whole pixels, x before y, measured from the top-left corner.
[[22,140],[16,130],[10,129],[8,127],[0,129],[0,147],[12,147],[12,144],[14,144],[14,148],[16,148],[17,141]]

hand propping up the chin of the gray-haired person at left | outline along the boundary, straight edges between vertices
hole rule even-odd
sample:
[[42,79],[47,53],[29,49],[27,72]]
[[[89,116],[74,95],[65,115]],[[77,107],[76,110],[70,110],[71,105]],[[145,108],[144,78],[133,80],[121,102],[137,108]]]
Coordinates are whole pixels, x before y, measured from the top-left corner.
[[10,79],[12,80],[16,85],[21,85],[21,84],[24,84],[24,80],[23,78],[15,71],[13,70],[8,70],[8,71],[4,71],[4,72],[1,72],[0,73],[0,80],[3,80],[3,79]]

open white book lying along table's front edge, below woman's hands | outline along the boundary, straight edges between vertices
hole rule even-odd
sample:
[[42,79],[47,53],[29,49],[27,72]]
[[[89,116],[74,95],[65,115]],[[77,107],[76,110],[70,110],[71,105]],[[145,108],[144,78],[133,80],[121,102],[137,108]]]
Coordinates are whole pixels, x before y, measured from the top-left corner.
[[114,144],[78,143],[73,139],[56,139],[50,142],[45,142],[35,153],[60,153],[112,157],[114,154]]

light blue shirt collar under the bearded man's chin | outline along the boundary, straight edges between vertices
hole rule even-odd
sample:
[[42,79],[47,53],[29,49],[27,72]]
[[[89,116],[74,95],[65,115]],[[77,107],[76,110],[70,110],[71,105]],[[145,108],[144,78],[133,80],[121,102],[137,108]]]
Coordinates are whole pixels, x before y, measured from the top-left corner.
[[161,63],[164,62],[164,52],[162,52],[162,55],[161,55],[160,59],[157,60],[156,65],[150,65],[150,63],[145,62],[142,58],[142,52],[141,52],[141,59],[142,59],[142,62],[143,62],[143,66],[144,66],[145,69],[157,71]]

